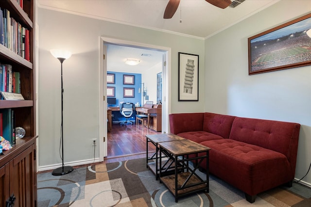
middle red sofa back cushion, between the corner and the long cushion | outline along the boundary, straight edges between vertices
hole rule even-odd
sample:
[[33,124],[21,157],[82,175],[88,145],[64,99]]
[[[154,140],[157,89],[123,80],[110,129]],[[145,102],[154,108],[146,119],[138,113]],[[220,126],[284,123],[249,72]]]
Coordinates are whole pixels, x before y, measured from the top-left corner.
[[204,113],[203,131],[228,138],[234,118],[235,116],[206,112]]

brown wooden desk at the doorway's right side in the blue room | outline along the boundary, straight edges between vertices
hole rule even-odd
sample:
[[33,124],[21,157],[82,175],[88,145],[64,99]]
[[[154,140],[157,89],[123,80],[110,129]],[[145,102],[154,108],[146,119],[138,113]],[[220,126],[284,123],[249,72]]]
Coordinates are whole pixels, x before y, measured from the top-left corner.
[[153,107],[136,107],[136,111],[148,115],[148,123],[153,130],[162,131],[162,106],[155,104]]

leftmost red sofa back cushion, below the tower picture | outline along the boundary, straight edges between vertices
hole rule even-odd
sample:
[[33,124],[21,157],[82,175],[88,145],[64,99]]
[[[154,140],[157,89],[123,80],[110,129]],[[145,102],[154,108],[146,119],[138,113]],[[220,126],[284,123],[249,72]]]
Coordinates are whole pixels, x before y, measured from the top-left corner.
[[188,131],[202,131],[204,113],[172,113],[170,118],[170,131],[179,134]]

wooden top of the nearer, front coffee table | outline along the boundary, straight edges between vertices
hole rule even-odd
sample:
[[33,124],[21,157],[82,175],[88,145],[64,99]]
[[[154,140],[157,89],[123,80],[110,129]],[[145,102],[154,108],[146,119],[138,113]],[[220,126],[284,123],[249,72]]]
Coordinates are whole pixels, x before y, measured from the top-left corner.
[[174,142],[159,143],[159,146],[174,156],[188,155],[210,150],[210,148],[207,146],[186,139]]

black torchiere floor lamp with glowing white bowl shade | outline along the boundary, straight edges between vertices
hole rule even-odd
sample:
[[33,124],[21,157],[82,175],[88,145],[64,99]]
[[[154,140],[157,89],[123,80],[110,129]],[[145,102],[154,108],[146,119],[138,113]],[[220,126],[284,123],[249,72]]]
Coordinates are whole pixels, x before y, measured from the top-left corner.
[[71,56],[71,52],[66,50],[51,49],[51,54],[60,61],[61,64],[61,86],[62,86],[62,123],[61,123],[61,142],[62,142],[62,166],[52,171],[52,175],[66,175],[73,171],[73,167],[64,166],[64,133],[63,133],[63,62]]

